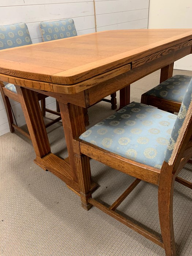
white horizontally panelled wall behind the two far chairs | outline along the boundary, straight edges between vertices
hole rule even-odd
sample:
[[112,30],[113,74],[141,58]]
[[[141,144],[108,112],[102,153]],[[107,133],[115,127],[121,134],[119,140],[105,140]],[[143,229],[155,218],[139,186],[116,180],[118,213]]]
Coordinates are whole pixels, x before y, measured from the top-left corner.
[[[149,0],[0,0],[0,25],[25,22],[33,43],[42,42],[39,22],[72,18],[78,35],[95,30],[143,29],[148,24]],[[96,22],[96,27],[95,27]],[[25,124],[19,103],[11,100],[18,125]],[[46,98],[49,109],[55,99]],[[0,95],[0,136],[9,132],[7,114]]]

